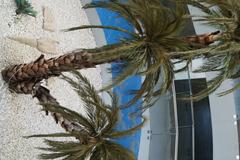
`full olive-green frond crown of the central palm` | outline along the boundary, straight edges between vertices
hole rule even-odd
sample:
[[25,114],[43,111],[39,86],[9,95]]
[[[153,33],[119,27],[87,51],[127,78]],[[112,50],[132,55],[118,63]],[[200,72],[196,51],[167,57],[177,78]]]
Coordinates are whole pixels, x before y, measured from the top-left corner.
[[[122,64],[121,73],[103,90],[120,84],[128,76],[145,76],[141,88],[131,92],[135,97],[127,104],[130,105],[142,96],[144,102],[148,103],[153,95],[161,95],[170,88],[174,76],[174,64],[169,53],[188,48],[186,39],[179,37],[187,17],[180,5],[170,9],[161,4],[160,0],[110,0],[92,2],[84,8],[105,8],[116,12],[118,18],[124,18],[135,29],[128,31],[115,26],[85,25],[65,30],[101,28],[117,30],[129,35],[129,38],[117,44],[87,50],[96,53],[92,57],[93,62],[119,60]],[[163,77],[161,86],[155,87],[160,76]]]

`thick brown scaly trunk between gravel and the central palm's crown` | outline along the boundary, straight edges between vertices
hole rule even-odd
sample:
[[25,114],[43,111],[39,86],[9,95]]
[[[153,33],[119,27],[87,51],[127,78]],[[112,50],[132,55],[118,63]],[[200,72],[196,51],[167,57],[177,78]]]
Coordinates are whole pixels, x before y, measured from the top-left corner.
[[78,51],[51,59],[45,59],[41,55],[36,61],[28,64],[20,64],[8,67],[2,71],[6,82],[22,82],[27,80],[42,80],[51,76],[58,76],[61,72],[70,69],[91,68],[97,65],[89,62],[92,53]]

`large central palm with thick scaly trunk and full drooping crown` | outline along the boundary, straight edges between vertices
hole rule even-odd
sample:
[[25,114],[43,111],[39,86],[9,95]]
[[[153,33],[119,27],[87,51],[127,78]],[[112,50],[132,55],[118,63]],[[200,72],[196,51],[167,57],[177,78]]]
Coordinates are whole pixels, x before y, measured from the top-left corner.
[[[214,42],[216,33],[200,36],[180,37],[184,28],[186,13],[182,5],[176,4],[170,9],[161,4],[160,0],[121,0],[98,1],[84,6],[88,8],[106,8],[126,19],[135,29],[128,31],[114,26],[80,26],[67,31],[86,28],[112,29],[130,36],[113,45],[94,49],[82,49],[67,53],[58,58],[44,59],[40,56],[29,64],[8,67],[2,71],[3,78],[11,89],[20,93],[31,93],[33,87],[42,79],[58,76],[61,72],[74,69],[95,67],[99,64],[118,62],[123,71],[113,82],[104,87],[108,90],[120,84],[128,76],[141,75],[144,81],[139,90],[132,91],[135,97],[128,103],[134,103],[140,97],[149,103],[153,96],[165,93],[171,86],[174,73],[186,69],[190,58],[172,52],[185,51],[189,48],[202,48]],[[177,62],[176,62],[177,59]],[[173,61],[174,60],[174,61]],[[179,62],[186,62],[182,69],[174,69]],[[156,84],[161,86],[156,90]],[[154,89],[155,88],[155,89]]]

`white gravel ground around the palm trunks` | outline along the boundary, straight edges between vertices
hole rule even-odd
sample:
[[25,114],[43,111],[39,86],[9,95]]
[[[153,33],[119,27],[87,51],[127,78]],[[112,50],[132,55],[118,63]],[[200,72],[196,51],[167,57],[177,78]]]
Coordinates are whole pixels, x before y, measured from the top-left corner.
[[[30,62],[42,53],[35,48],[9,40],[9,36],[31,38],[49,37],[56,39],[59,54],[45,54],[53,57],[77,48],[95,47],[95,40],[90,30],[62,33],[61,29],[89,24],[79,0],[32,0],[37,10],[37,18],[15,16],[14,0],[0,0],[0,68],[11,64]],[[56,20],[56,32],[42,29],[43,7],[49,7]],[[83,73],[97,87],[101,87],[100,68],[87,69]],[[58,101],[67,107],[82,111],[81,101],[66,82],[58,78],[47,81],[48,88]],[[0,160],[34,160],[39,151],[34,147],[43,146],[42,139],[24,139],[22,136],[37,133],[62,131],[51,116],[45,116],[37,105],[37,100],[30,95],[11,93],[0,79]]]

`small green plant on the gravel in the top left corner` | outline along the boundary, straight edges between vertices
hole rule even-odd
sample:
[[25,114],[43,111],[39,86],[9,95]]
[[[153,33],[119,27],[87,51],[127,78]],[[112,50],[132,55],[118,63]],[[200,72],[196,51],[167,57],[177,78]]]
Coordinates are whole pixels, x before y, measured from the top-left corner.
[[37,16],[37,12],[33,9],[28,0],[15,0],[15,2],[17,4],[17,14],[27,14],[33,17]]

